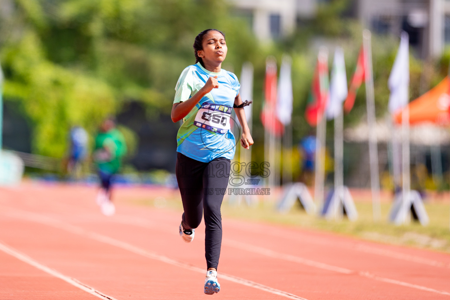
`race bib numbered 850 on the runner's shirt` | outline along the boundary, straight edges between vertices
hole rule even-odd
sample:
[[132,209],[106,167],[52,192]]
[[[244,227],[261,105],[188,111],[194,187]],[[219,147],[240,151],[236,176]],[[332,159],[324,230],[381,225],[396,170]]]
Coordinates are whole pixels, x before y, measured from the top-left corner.
[[195,116],[194,125],[206,130],[225,134],[230,130],[230,117],[231,107],[205,102]]

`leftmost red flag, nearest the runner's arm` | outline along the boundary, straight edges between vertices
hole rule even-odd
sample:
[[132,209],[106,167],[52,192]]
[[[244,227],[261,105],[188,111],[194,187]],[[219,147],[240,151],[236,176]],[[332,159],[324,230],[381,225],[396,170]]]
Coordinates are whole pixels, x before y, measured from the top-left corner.
[[261,111],[261,122],[272,134],[281,135],[284,126],[276,116],[277,105],[277,64],[275,59],[266,60],[265,101]]

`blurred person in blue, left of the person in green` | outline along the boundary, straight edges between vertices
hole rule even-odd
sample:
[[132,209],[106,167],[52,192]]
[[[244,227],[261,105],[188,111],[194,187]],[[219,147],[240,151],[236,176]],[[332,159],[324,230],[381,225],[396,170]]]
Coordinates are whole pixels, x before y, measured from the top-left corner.
[[69,159],[67,173],[73,179],[81,177],[81,168],[86,159],[88,134],[81,126],[73,126],[69,133]]

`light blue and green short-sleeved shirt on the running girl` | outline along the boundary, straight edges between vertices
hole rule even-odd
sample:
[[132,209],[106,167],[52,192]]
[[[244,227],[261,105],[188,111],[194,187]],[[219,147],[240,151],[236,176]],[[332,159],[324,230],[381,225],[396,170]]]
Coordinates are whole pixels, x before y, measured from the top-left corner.
[[217,76],[219,88],[212,89],[183,118],[176,136],[176,151],[202,162],[234,157],[235,139],[229,130],[229,121],[234,99],[239,94],[238,77],[224,69],[209,72],[196,63],[181,72],[175,86],[174,104],[191,98],[214,76]]

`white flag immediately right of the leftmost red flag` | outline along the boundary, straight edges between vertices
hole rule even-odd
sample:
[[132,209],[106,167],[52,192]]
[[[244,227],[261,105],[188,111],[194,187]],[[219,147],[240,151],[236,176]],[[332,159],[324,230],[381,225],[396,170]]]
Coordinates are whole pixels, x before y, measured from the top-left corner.
[[283,56],[283,62],[280,67],[280,76],[278,81],[278,99],[276,115],[283,125],[291,123],[292,118],[292,79],[291,79],[291,58]]

